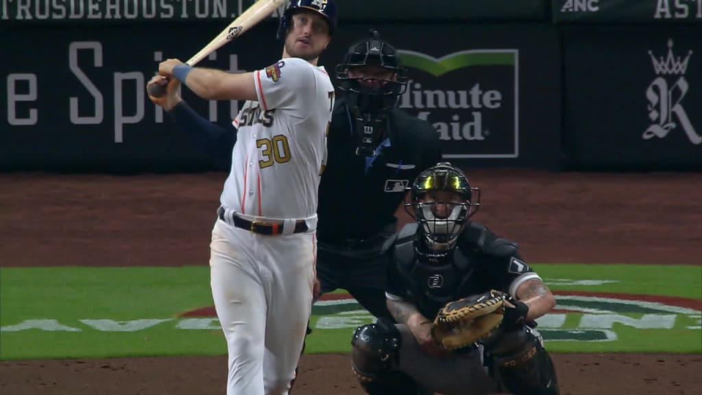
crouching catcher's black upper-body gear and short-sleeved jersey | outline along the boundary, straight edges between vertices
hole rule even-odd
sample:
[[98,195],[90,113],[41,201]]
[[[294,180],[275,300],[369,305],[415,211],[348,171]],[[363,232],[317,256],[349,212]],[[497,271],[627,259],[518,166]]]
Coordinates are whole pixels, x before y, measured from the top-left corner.
[[[471,221],[458,238],[457,247],[437,254],[415,235],[416,224],[403,228],[392,249],[388,266],[389,299],[411,302],[430,320],[453,300],[498,290],[516,297],[524,281],[539,278],[522,261],[517,244]],[[419,230],[419,232],[421,232]]]

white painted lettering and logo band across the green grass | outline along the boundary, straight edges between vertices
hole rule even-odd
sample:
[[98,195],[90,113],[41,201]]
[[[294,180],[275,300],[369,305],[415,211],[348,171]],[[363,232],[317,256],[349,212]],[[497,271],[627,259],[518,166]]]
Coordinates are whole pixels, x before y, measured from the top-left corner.
[[[538,319],[537,330],[548,341],[625,342],[632,330],[641,330],[634,337],[645,337],[651,330],[672,330],[676,335],[702,335],[702,299],[662,297],[642,294],[607,292],[555,292],[556,309]],[[352,330],[358,325],[372,323],[373,316],[349,294],[325,294],[312,306],[317,316],[312,327],[319,330]],[[84,318],[57,320],[47,317],[4,323],[0,332],[142,332],[152,328],[170,327],[174,330],[213,330],[220,325],[213,306],[187,311],[179,317]],[[695,345],[695,344],[698,344]],[[691,347],[702,347],[700,342]]]

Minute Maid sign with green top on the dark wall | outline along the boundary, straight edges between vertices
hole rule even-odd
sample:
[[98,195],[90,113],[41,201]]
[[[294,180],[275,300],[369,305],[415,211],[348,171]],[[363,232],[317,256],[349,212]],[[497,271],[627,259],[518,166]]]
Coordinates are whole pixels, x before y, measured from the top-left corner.
[[414,72],[399,108],[432,122],[444,157],[519,156],[519,51],[479,49],[434,58],[399,50]]

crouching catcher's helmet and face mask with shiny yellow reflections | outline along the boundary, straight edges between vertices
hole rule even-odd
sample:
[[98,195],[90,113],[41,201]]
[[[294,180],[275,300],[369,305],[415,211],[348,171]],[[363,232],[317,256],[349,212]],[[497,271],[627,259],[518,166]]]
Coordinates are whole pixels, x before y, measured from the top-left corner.
[[431,250],[453,248],[480,207],[480,189],[471,187],[463,171],[449,162],[423,171],[407,189],[410,201],[404,208],[420,225]]

